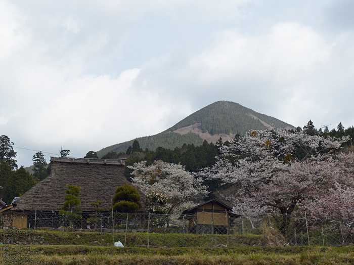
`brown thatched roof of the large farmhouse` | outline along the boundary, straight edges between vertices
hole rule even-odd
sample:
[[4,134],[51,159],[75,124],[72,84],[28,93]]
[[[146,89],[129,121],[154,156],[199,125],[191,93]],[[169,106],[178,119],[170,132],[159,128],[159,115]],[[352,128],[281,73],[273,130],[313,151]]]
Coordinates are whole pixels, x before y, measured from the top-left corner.
[[90,202],[101,200],[106,211],[118,186],[128,183],[125,159],[51,158],[49,176],[14,203],[12,211],[59,211],[63,207],[66,185],[80,186],[83,211],[92,211]]

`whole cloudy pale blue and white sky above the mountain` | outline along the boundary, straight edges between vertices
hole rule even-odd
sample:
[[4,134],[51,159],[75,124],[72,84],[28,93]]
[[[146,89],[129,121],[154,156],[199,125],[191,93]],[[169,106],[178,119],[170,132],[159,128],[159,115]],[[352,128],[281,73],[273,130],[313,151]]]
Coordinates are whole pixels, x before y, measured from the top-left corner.
[[[0,135],[18,165],[155,135],[219,100],[354,125],[351,0],[0,0]],[[28,150],[29,149],[29,150]]]

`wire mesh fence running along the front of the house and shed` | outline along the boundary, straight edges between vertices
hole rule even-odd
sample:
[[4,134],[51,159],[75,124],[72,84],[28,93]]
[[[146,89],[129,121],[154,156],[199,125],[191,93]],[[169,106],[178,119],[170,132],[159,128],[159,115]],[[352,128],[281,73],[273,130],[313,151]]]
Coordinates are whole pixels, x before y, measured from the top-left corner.
[[354,245],[354,220],[309,220],[304,214],[257,217],[231,212],[0,213],[1,242],[18,245],[126,247]]

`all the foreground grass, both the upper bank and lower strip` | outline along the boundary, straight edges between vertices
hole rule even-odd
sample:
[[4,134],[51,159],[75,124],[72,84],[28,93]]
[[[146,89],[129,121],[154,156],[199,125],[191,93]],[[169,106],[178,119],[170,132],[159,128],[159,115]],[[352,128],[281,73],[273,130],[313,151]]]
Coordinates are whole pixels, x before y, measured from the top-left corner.
[[[11,263],[12,252],[22,257],[22,264],[354,264],[354,246],[277,247],[261,235],[128,233],[125,238],[118,233],[114,241],[126,240],[126,247],[119,248],[113,246],[112,233],[17,232],[12,235],[16,245],[2,245],[0,264],[21,264]],[[275,241],[283,246],[280,238]]]

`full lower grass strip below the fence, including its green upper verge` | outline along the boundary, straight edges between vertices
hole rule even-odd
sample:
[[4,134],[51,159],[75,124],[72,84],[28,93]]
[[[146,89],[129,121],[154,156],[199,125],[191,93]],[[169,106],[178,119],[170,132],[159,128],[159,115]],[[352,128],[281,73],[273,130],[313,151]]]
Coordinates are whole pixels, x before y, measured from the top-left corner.
[[28,247],[32,264],[354,264],[354,247]]

